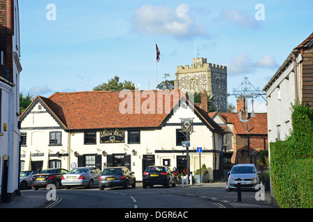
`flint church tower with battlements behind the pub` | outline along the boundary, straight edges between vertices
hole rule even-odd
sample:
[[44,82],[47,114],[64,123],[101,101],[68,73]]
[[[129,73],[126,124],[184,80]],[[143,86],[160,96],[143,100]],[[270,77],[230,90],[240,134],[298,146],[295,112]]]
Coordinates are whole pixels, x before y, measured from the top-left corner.
[[193,58],[193,64],[178,66],[175,89],[182,92],[205,90],[214,98],[214,108],[227,112],[227,67],[207,63],[207,58]]

